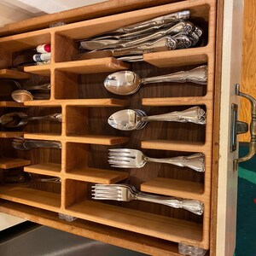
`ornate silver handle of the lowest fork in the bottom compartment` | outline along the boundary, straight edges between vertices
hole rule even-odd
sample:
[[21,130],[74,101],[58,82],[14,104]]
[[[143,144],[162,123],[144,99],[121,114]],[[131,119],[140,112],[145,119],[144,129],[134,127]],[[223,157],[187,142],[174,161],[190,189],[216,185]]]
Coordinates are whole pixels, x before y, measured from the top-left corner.
[[204,212],[204,207],[202,202],[197,200],[179,199],[175,197],[170,199],[170,197],[166,197],[166,196],[159,196],[159,195],[149,196],[145,193],[137,195],[136,199],[140,201],[154,202],[154,203],[165,205],[168,207],[183,208],[197,215],[202,215],[202,213]]

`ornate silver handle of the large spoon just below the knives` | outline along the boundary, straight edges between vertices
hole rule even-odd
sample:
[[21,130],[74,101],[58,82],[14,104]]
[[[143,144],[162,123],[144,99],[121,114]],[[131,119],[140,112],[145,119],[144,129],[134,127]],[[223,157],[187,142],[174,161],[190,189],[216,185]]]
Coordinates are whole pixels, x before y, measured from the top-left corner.
[[195,67],[189,71],[180,71],[177,73],[166,74],[153,78],[142,79],[142,84],[152,84],[160,82],[192,82],[195,84],[207,84],[207,65]]

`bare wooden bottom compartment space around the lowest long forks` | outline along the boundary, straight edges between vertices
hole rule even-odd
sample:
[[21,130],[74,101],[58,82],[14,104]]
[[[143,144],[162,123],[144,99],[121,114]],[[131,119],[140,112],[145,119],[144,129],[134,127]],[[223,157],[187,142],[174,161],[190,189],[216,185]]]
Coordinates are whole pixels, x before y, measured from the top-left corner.
[[169,241],[201,242],[201,216],[145,201],[96,201],[90,199],[91,185],[66,181],[67,214]]

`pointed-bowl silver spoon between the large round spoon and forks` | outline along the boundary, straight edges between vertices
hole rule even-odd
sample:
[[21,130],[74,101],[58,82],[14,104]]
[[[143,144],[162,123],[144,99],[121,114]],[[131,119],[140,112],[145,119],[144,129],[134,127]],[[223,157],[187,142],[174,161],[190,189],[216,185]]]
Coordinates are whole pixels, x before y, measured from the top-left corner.
[[124,109],[113,113],[108,118],[108,124],[121,131],[143,129],[149,121],[191,122],[199,125],[205,125],[206,113],[198,106],[188,108],[183,111],[175,111],[172,113],[163,113],[152,116],[146,116],[146,113],[143,113],[142,110]]

